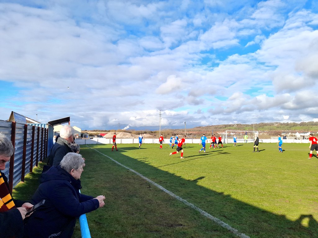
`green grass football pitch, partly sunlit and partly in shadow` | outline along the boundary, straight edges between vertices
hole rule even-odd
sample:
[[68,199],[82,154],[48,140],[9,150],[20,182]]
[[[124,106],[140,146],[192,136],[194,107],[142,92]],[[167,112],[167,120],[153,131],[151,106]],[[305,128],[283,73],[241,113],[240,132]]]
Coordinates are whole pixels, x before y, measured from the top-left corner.
[[110,158],[245,237],[318,237],[318,158],[308,159],[308,145],[283,144],[279,153],[261,143],[252,153],[252,143],[227,144],[199,154],[187,144],[183,159],[169,156],[167,144],[82,146],[81,191],[106,196],[104,208],[87,214],[92,237],[238,237]]

